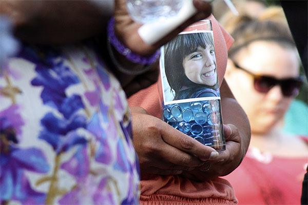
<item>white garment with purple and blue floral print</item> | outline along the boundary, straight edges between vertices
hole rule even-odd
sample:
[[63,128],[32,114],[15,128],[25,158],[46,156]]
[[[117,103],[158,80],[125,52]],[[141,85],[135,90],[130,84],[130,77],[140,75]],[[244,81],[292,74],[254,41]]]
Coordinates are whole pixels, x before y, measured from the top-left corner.
[[0,89],[1,204],[139,203],[125,93],[92,46],[23,45]]

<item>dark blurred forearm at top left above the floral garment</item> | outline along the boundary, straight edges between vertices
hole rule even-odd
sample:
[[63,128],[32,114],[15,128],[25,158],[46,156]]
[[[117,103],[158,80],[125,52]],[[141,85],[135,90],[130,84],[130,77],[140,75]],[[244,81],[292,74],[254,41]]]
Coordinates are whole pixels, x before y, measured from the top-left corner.
[[[97,3],[94,3],[97,2]],[[13,22],[15,35],[30,43],[82,40],[105,28],[113,1],[1,1],[1,14]]]

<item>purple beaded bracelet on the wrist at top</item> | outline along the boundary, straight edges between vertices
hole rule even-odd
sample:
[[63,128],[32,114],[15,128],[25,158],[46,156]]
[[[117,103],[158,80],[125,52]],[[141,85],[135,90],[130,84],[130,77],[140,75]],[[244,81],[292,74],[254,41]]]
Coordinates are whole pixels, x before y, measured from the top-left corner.
[[107,27],[107,35],[108,40],[110,44],[113,46],[115,50],[117,50],[120,54],[126,57],[129,61],[135,64],[141,64],[141,65],[151,65],[153,64],[156,59],[160,55],[160,50],[157,50],[154,54],[151,56],[145,57],[138,55],[137,53],[133,53],[129,48],[126,48],[120,40],[117,38],[117,36],[114,33],[114,18],[112,17],[109,20],[108,27]]

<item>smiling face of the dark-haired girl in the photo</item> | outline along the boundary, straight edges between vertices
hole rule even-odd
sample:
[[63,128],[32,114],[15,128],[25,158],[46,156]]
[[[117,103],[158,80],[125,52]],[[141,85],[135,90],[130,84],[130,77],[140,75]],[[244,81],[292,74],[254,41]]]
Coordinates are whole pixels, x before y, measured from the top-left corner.
[[206,86],[217,84],[217,71],[214,46],[199,46],[195,52],[186,55],[183,59],[183,68],[187,78],[196,83]]

